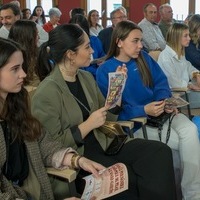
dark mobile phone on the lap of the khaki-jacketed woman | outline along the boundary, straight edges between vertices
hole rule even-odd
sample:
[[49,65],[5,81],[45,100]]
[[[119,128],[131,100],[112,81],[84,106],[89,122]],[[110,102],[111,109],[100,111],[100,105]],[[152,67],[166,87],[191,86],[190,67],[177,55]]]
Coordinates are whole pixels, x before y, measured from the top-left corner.
[[126,142],[128,135],[116,135],[109,147],[106,149],[106,155],[115,155],[123,147]]

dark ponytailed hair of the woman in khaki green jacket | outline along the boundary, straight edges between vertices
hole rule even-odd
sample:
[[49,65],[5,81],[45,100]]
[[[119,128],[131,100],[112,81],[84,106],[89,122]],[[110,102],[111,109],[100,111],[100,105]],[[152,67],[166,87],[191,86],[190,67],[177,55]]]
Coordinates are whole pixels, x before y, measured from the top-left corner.
[[84,43],[84,31],[75,24],[63,24],[49,32],[49,41],[39,50],[37,75],[43,80],[65,58],[67,50],[77,51]]

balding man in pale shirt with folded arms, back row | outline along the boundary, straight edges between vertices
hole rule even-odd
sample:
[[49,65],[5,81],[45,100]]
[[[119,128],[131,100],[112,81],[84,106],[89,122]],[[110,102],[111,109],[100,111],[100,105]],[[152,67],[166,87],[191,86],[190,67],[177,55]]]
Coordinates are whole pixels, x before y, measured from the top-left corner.
[[144,19],[138,24],[143,32],[143,45],[148,51],[162,51],[165,48],[165,39],[156,23],[157,8],[153,3],[143,7]]

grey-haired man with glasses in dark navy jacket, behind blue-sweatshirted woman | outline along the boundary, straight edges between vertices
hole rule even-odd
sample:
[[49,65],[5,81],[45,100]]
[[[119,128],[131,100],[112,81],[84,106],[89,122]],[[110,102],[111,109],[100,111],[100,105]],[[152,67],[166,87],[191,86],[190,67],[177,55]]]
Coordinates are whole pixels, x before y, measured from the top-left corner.
[[104,28],[103,30],[101,30],[99,32],[99,35],[98,35],[99,39],[102,42],[103,50],[105,53],[107,53],[109,50],[111,36],[112,36],[112,32],[113,32],[115,26],[117,25],[117,23],[119,23],[123,20],[127,20],[127,15],[126,15],[124,9],[122,9],[122,7],[119,7],[110,13],[110,19],[112,22],[112,26]]

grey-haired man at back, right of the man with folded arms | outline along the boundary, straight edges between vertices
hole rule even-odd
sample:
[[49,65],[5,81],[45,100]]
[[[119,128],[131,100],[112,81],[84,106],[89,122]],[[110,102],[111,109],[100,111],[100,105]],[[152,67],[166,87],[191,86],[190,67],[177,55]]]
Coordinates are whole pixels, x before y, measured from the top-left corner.
[[166,38],[169,27],[175,22],[175,20],[173,19],[172,7],[168,3],[162,4],[159,7],[159,13],[160,21],[158,23],[158,26],[163,34],[163,37]]

